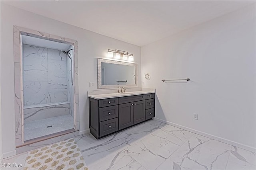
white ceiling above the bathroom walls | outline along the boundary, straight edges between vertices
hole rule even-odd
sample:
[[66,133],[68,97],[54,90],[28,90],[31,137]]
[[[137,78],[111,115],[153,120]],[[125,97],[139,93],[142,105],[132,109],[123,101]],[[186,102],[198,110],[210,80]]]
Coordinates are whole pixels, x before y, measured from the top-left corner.
[[144,46],[255,1],[2,1],[134,45]]

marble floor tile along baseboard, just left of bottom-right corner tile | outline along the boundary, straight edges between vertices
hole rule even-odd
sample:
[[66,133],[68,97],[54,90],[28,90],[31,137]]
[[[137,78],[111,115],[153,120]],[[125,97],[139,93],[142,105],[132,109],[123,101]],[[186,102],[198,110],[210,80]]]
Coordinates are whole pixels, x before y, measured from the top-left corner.
[[168,158],[168,162],[176,169],[225,169],[230,151],[231,145],[195,134]]

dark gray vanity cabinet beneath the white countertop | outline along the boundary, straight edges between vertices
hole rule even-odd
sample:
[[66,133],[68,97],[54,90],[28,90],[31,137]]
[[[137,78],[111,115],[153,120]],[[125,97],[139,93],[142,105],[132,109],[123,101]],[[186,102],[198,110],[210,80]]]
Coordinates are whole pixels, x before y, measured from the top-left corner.
[[100,100],[89,97],[90,132],[96,139],[134,126],[154,116],[154,93]]

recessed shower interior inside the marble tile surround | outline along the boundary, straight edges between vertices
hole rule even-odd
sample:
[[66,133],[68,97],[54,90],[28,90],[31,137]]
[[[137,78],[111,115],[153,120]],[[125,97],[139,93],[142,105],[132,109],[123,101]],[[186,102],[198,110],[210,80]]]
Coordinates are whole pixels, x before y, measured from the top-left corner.
[[23,142],[75,131],[74,45],[20,34]]

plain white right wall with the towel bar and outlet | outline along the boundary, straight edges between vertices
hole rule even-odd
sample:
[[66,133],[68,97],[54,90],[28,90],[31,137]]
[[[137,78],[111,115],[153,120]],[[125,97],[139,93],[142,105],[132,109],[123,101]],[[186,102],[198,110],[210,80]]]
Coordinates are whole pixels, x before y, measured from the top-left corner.
[[142,47],[156,118],[255,149],[255,30],[254,4]]

